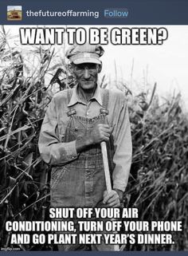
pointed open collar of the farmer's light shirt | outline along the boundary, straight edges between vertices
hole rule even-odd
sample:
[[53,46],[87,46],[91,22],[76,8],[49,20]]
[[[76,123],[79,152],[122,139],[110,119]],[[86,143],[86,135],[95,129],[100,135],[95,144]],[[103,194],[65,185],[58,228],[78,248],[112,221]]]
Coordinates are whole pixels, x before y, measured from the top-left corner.
[[[79,96],[78,96],[78,93],[77,93],[77,88],[78,88],[78,85],[76,85],[76,87],[74,87],[72,89],[72,97],[71,97],[71,99],[69,101],[68,107],[71,107],[72,105],[74,105],[74,104],[76,104],[78,102],[83,103],[79,99]],[[99,85],[96,86],[96,91],[95,91],[94,95],[92,96],[91,100],[96,100],[101,106],[103,105],[102,92],[101,92],[101,89],[100,89]]]

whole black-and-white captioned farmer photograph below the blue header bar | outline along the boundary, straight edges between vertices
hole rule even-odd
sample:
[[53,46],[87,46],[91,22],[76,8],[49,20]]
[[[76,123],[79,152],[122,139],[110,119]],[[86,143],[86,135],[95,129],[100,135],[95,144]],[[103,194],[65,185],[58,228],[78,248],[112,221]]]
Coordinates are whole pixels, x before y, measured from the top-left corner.
[[187,31],[1,26],[1,250],[188,250]]

